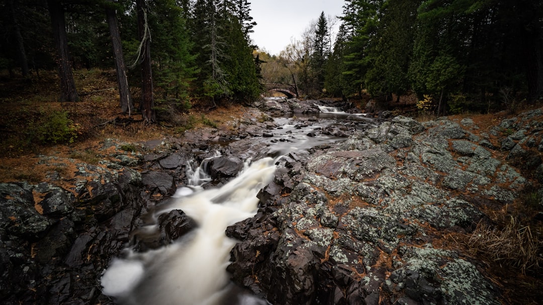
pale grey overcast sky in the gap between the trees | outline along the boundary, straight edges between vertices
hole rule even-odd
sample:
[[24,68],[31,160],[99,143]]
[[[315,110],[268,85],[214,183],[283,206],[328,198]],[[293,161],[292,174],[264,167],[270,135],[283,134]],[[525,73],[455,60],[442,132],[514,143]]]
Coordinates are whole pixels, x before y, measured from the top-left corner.
[[251,39],[260,49],[278,55],[291,38],[299,40],[320,12],[326,17],[342,15],[343,4],[343,0],[252,0],[251,16],[257,24]]

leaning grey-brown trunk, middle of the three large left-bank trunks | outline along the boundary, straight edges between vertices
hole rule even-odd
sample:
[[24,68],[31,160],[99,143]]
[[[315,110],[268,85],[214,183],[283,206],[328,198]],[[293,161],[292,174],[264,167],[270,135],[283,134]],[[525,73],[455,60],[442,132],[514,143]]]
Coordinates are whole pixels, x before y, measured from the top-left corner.
[[109,33],[111,35],[111,44],[113,46],[113,56],[115,57],[115,67],[117,69],[117,82],[119,83],[119,96],[121,100],[121,111],[130,115],[134,111],[130,88],[128,87],[128,78],[124,67],[123,46],[121,44],[121,34],[119,34],[119,24],[115,10],[105,9],[108,18]]

